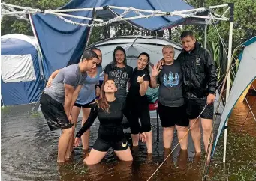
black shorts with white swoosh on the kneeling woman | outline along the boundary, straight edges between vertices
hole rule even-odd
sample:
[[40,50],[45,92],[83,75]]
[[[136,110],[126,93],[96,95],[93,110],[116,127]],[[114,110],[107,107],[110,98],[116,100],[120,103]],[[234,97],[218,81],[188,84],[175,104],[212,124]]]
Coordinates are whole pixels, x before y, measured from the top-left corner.
[[97,138],[92,148],[97,151],[107,152],[110,147],[113,147],[115,151],[122,151],[128,149],[129,145],[125,137],[121,141],[104,141],[101,138]]

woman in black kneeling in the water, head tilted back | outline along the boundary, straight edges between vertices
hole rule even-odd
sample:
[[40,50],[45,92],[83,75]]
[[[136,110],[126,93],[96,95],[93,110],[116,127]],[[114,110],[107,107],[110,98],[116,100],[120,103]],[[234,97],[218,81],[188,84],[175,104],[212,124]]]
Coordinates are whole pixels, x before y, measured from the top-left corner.
[[86,123],[77,132],[75,146],[78,146],[80,137],[92,126],[95,117],[98,116],[100,126],[98,129],[98,138],[92,147],[89,156],[84,159],[88,165],[93,165],[101,162],[101,159],[107,153],[110,147],[113,147],[116,156],[122,161],[132,161],[131,150],[128,147],[128,141],[122,130],[122,110],[124,102],[115,97],[117,91],[115,82],[107,80],[101,87],[101,96],[97,103],[92,108],[91,116]]

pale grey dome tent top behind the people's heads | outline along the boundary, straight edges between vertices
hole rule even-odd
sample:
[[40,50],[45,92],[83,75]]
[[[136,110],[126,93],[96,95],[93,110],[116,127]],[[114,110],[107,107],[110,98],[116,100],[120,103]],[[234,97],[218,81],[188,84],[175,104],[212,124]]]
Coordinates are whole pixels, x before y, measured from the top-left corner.
[[127,64],[137,67],[137,57],[141,52],[146,52],[150,56],[150,62],[156,64],[162,57],[162,48],[165,45],[172,45],[175,49],[175,59],[182,50],[182,46],[171,40],[162,37],[152,36],[122,36],[102,40],[89,45],[87,48],[97,47],[101,49],[103,55],[102,67],[113,61],[113,51],[116,46],[125,49]]

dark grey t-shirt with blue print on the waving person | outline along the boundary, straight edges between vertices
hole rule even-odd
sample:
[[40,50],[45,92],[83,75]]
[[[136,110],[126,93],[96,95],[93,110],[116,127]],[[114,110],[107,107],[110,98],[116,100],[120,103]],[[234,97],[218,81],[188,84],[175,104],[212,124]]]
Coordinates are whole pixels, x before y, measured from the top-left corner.
[[182,96],[182,70],[179,61],[164,65],[158,75],[158,102],[168,107],[179,107],[184,104]]

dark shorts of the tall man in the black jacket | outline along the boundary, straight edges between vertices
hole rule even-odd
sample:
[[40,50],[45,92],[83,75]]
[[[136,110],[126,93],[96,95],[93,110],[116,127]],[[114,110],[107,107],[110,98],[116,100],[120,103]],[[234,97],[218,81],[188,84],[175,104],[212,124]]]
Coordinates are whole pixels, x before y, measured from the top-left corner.
[[[189,119],[196,119],[207,105],[207,99],[186,99],[187,114]],[[204,119],[213,119],[214,105],[207,105],[200,117]]]

